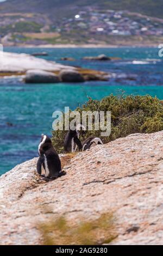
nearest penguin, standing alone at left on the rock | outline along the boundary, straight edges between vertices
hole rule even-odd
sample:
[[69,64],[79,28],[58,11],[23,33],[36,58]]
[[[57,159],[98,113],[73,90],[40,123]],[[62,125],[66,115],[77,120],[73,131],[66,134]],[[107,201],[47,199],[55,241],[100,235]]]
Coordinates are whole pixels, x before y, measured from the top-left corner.
[[61,174],[61,162],[48,136],[42,135],[38,151],[40,157],[37,161],[37,173],[47,179],[58,178]]

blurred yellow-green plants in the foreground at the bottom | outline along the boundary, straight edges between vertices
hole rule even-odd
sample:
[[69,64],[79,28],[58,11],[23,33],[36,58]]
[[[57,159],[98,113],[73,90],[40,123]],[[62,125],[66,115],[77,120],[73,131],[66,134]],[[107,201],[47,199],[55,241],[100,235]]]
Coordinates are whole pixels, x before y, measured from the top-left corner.
[[65,217],[39,225],[43,245],[102,245],[115,239],[112,214],[102,214],[93,221],[73,224]]

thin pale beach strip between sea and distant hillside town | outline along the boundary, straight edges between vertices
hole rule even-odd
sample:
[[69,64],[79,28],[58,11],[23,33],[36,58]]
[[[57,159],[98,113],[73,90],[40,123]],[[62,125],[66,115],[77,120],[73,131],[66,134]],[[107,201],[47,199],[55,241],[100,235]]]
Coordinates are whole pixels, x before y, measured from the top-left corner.
[[46,45],[6,45],[4,48],[7,47],[20,47],[20,48],[158,48],[158,44],[136,44],[136,45],[103,45],[103,44],[46,44]]

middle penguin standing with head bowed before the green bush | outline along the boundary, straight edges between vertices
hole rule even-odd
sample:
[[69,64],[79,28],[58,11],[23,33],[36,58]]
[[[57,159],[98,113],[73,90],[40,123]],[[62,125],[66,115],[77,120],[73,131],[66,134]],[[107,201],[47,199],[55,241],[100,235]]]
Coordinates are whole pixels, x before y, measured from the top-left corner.
[[79,130],[80,127],[83,128],[83,130],[85,131],[85,127],[82,124],[77,125],[76,130],[69,130],[67,132],[67,135],[65,137],[65,141],[64,141],[64,149],[65,151],[74,153],[76,152],[77,148],[79,148],[79,150],[82,150],[82,143],[80,142],[79,139]]

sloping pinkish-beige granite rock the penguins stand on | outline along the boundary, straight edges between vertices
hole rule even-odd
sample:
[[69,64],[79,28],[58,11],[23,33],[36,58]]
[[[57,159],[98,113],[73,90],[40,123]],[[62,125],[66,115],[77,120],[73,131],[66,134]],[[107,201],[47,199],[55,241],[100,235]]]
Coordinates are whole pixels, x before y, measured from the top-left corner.
[[114,211],[116,245],[163,241],[163,131],[130,135],[79,153],[67,174],[46,183],[36,160],[0,178],[1,245],[41,243],[37,223],[65,214],[95,218]]

